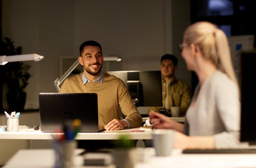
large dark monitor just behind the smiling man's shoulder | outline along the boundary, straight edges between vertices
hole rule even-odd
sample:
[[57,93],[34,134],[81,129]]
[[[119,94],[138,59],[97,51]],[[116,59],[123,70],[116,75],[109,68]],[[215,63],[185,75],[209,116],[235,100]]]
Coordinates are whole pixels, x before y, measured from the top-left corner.
[[161,71],[107,71],[123,80],[136,106],[162,106]]

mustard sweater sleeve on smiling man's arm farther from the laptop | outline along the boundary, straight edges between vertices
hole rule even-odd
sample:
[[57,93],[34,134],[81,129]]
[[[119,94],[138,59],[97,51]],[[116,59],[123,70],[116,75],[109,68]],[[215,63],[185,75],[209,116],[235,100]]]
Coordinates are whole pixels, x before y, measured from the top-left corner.
[[142,126],[142,116],[137,111],[135,103],[122,80],[119,80],[118,96],[119,106],[123,115],[126,116],[126,120],[128,120],[129,128]]

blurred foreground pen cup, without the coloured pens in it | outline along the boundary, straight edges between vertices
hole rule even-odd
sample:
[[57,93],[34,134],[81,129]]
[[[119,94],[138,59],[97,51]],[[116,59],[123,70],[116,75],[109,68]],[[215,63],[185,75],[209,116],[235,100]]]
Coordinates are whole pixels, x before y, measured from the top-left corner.
[[74,166],[74,150],[76,141],[53,141],[55,151],[55,168],[70,168]]

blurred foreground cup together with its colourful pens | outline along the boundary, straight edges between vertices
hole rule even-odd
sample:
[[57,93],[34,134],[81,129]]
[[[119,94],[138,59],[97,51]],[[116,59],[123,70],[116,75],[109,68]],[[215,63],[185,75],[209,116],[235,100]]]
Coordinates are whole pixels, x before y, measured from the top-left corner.
[[76,135],[80,130],[81,120],[65,122],[62,130],[53,135],[53,149],[55,151],[55,168],[74,167],[74,151],[76,149]]

